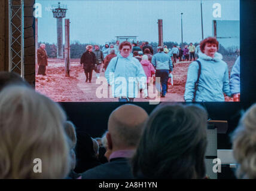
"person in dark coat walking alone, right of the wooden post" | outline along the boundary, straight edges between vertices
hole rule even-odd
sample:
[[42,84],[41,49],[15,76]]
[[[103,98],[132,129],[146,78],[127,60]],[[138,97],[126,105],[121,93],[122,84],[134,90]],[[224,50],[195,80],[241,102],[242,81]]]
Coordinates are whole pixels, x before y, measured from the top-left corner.
[[84,67],[84,73],[86,74],[86,82],[92,81],[92,73],[93,69],[96,67],[96,56],[93,51],[92,45],[86,46],[86,52],[82,55],[80,63],[83,64]]

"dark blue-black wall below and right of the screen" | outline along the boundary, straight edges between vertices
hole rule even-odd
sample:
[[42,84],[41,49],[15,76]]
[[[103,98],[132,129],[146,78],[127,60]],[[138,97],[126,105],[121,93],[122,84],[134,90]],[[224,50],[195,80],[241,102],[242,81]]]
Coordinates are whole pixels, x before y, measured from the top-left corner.
[[[256,1],[240,0],[240,88],[241,102],[205,102],[199,103],[209,113],[209,118],[227,120],[228,131],[218,134],[218,149],[231,149],[229,134],[236,128],[240,112],[248,109],[256,102],[256,32],[255,32]],[[68,119],[77,128],[82,128],[92,137],[101,137],[107,129],[108,116],[123,103],[112,102],[63,102]],[[143,107],[148,114],[157,106],[144,102],[135,102]],[[181,103],[187,104],[187,103]]]

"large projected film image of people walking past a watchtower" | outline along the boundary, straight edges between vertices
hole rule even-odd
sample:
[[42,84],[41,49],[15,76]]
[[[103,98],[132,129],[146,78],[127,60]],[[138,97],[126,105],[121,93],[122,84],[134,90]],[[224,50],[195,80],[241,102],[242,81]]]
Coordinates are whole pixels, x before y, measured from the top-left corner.
[[240,101],[239,0],[36,0],[34,16],[54,101]]

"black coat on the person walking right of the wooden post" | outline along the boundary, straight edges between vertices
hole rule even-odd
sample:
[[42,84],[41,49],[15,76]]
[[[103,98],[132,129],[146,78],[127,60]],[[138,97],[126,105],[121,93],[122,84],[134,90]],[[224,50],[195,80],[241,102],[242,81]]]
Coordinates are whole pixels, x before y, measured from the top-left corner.
[[90,53],[89,51],[86,51],[82,55],[80,63],[83,64],[84,71],[90,72],[90,70],[94,69],[95,64],[97,63],[95,53]]

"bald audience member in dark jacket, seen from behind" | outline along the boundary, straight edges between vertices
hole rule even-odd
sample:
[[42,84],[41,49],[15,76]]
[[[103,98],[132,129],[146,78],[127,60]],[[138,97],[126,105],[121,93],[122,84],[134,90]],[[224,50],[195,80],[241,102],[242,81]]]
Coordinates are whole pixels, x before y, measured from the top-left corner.
[[144,129],[147,112],[139,106],[125,104],[115,109],[108,119],[109,162],[83,173],[85,179],[133,178],[129,165]]

